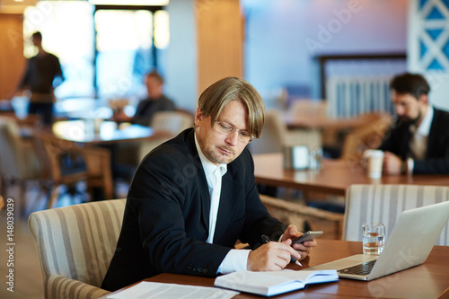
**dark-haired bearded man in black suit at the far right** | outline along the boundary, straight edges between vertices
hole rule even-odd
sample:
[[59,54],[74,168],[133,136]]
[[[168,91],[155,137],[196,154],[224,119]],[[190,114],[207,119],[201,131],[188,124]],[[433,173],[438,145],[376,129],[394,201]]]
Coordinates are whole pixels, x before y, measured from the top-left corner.
[[383,140],[383,173],[449,173],[449,113],[432,107],[422,75],[392,79],[397,119]]

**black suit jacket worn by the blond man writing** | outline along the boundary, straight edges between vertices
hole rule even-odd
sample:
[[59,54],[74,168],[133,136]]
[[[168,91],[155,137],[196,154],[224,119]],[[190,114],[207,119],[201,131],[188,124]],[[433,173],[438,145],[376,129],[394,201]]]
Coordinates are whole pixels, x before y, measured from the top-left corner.
[[209,210],[206,175],[189,128],[137,168],[101,287],[113,291],[163,272],[213,277],[237,239],[256,247],[262,233],[278,238],[286,229],[260,202],[247,149],[223,176],[213,244],[206,242]]

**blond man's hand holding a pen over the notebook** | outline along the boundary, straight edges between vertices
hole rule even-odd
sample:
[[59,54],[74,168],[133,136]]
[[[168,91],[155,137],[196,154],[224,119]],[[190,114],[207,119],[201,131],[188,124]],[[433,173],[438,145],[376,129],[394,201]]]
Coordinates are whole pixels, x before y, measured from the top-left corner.
[[250,271],[277,271],[286,268],[291,256],[301,259],[301,255],[290,246],[291,244],[290,239],[284,242],[268,242],[257,250],[250,251],[247,269]]

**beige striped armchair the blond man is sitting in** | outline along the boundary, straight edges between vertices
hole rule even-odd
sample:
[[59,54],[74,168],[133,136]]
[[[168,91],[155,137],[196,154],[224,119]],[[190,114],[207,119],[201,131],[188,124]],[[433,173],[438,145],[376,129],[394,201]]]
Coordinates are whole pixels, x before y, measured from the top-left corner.
[[117,246],[126,199],[34,212],[36,244],[46,298],[98,298]]

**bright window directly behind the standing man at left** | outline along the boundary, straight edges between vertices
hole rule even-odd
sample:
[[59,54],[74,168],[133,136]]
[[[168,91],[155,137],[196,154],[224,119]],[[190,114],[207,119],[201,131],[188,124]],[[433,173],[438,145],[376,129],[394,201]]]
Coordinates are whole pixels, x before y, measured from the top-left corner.
[[24,12],[24,55],[32,57],[31,34],[42,33],[42,46],[61,63],[65,82],[55,90],[58,99],[92,97],[93,89],[93,7],[82,1],[40,1]]

